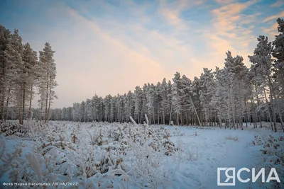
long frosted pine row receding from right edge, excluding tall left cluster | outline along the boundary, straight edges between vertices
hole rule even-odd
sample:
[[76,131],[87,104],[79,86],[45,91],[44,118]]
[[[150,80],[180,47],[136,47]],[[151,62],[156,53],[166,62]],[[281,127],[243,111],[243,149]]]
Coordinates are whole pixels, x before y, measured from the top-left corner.
[[[123,95],[94,95],[67,108],[51,109],[48,118],[129,122],[131,116],[143,123],[147,114],[151,124],[224,125],[234,129],[243,129],[244,122],[253,123],[253,127],[260,122],[262,127],[261,121],[266,121],[276,132],[276,122],[283,127],[284,114],[284,21],[278,18],[277,23],[278,35],[273,42],[264,35],[257,38],[249,68],[243,57],[234,57],[228,51],[224,68],[204,68],[193,80],[176,72],[172,81],[163,79],[158,84],[136,86]],[[32,109],[34,118],[40,119],[42,110]]]

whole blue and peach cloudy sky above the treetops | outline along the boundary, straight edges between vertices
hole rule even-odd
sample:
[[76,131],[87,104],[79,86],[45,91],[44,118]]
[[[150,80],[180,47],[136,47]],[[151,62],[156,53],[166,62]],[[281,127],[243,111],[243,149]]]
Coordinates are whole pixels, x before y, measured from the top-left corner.
[[223,67],[225,52],[244,57],[258,35],[277,34],[284,1],[0,1],[0,24],[18,28],[23,42],[55,50],[62,108],[99,96],[126,93],[202,68]]

